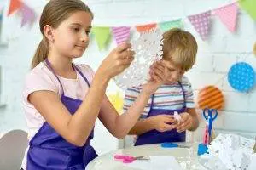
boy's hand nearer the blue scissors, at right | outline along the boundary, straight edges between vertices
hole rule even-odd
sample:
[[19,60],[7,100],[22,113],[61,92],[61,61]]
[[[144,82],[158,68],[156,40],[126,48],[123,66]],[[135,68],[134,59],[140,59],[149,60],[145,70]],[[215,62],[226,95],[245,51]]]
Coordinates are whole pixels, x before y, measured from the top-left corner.
[[182,133],[183,131],[190,129],[193,126],[193,117],[187,112],[180,114],[181,122],[177,124],[177,132]]

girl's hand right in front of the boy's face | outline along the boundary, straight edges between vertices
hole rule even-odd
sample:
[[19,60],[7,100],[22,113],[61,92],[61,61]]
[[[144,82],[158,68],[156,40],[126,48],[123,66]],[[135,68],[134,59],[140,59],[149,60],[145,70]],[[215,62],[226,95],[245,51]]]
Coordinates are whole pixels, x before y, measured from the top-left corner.
[[143,85],[143,92],[146,94],[154,94],[157,88],[160,87],[165,81],[165,65],[161,61],[154,62],[150,66],[150,79]]

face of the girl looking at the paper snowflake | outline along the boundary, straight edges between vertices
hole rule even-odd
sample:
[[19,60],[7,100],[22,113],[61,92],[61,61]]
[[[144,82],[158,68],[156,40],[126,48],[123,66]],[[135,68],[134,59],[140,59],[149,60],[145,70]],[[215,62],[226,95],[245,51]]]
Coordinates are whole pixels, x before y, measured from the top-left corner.
[[90,13],[78,11],[71,14],[53,30],[53,47],[70,58],[81,57],[89,44],[92,17]]

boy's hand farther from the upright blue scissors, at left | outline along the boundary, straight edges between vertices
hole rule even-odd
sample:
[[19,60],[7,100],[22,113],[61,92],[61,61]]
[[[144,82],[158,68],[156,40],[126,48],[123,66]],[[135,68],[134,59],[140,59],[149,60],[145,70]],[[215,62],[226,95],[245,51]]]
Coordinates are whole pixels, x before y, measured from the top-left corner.
[[154,129],[159,132],[166,132],[177,128],[177,123],[175,123],[176,120],[171,115],[151,116],[148,119],[150,119]]

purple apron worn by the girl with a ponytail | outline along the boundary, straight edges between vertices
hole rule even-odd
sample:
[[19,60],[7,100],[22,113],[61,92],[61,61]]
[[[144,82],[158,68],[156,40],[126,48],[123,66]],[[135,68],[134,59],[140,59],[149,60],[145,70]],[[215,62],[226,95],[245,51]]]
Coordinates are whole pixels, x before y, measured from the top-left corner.
[[[48,59],[46,59],[44,63],[61,83]],[[75,65],[73,65],[73,68],[79,72],[84,78],[84,81],[90,86],[84,74],[79,71]],[[62,84],[61,88],[61,102],[67,107],[67,110],[70,111],[71,114],[74,114],[79,108],[79,105],[81,105],[82,100],[65,96]],[[63,139],[60,134],[55,132],[55,129],[50,127],[48,122],[44,122],[44,125],[38,130],[38,133],[36,133],[29,143],[30,147],[27,152],[26,168],[27,170],[84,170],[86,165],[97,156],[96,151],[90,146],[90,139],[93,139],[93,130],[84,146],[79,147],[70,144]]]

